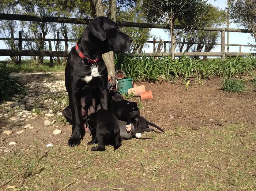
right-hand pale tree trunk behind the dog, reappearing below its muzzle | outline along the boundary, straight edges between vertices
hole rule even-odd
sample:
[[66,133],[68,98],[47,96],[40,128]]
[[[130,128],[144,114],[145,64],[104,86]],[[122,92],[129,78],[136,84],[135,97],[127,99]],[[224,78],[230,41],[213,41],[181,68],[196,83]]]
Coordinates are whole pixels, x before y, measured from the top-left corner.
[[[109,0],[110,18],[116,22],[116,0]],[[107,66],[107,72],[109,75],[115,74],[114,52],[110,51],[102,55],[102,58]]]

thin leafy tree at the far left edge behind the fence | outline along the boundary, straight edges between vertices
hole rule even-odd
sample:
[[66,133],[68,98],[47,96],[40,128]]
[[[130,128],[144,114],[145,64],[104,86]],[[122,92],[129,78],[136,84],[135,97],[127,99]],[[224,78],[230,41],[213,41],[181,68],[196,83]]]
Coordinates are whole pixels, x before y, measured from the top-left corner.
[[[18,14],[20,12],[18,8],[18,1],[15,0],[1,0],[0,1],[0,13],[7,14]],[[18,49],[18,42],[14,41],[17,38],[17,31],[20,28],[20,23],[17,20],[0,20],[0,36],[3,38],[10,38],[10,40],[5,40],[6,46],[11,50]],[[13,64],[18,64],[17,56],[12,56],[11,60]]]

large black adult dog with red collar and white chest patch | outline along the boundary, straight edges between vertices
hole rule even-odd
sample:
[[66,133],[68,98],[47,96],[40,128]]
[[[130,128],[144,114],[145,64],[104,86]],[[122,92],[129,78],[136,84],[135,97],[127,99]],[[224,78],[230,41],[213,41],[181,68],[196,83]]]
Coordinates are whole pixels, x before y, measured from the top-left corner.
[[[122,33],[118,25],[106,17],[96,17],[88,24],[76,46],[72,47],[65,68],[65,85],[69,95],[69,107],[62,113],[72,123],[69,146],[79,145],[85,134],[82,114],[82,89],[86,87],[86,96],[95,98],[94,108],[100,104],[108,110],[107,67],[101,55],[114,50],[116,53],[129,50],[132,38]],[[84,97],[86,97],[84,96]],[[83,110],[83,111],[82,111]]]

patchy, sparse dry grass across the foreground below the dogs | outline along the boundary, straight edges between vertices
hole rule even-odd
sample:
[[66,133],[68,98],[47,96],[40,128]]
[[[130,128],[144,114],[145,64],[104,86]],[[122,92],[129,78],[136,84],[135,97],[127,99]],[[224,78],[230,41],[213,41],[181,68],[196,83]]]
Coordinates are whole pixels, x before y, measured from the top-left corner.
[[116,151],[106,146],[104,152],[90,151],[90,136],[73,148],[66,138],[51,148],[31,140],[30,147],[0,156],[0,179],[19,190],[60,190],[70,183],[70,191],[255,190],[255,127],[176,127],[143,138],[151,139],[126,140]]

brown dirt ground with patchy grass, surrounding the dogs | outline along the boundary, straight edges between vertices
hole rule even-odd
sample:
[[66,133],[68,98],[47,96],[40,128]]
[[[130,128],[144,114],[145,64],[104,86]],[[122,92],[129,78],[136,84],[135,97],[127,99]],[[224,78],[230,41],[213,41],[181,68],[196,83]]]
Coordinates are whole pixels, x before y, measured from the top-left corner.
[[[141,116],[166,133],[146,132],[142,139],[124,140],[116,151],[107,146],[105,152],[91,152],[89,134],[69,148],[71,126],[56,115],[34,115],[27,122],[34,129],[9,136],[2,132],[23,127],[1,118],[0,138],[13,151],[0,152],[1,190],[256,190],[252,85],[247,82],[246,93],[227,94],[220,90],[220,78],[203,85],[190,80],[187,91],[169,82],[137,83],[153,91],[153,100],[139,101]],[[53,125],[43,124],[57,118]],[[62,133],[53,135],[55,129]],[[49,143],[53,146],[46,147]]]

